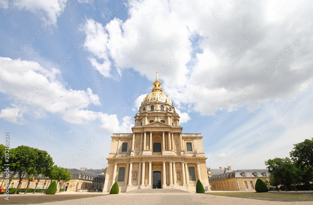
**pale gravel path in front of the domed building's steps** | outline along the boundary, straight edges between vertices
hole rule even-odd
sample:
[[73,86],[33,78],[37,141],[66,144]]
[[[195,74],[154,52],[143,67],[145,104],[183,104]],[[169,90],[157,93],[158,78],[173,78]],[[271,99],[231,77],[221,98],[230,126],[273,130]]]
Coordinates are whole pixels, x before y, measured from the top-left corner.
[[207,194],[195,194],[195,193],[159,193],[159,194],[116,194],[107,195],[100,197],[91,198],[81,198],[73,199],[67,201],[59,202],[47,202],[42,203],[44,205],[59,205],[59,204],[108,204],[108,205],[138,205],[138,204],[148,204],[148,205],[201,205],[201,204],[225,204],[225,205],[280,205],[280,204],[297,204],[297,205],[312,205],[313,202],[272,202],[272,201],[262,201],[256,199],[245,199],[245,198],[235,198],[235,197],[222,197],[213,196]]

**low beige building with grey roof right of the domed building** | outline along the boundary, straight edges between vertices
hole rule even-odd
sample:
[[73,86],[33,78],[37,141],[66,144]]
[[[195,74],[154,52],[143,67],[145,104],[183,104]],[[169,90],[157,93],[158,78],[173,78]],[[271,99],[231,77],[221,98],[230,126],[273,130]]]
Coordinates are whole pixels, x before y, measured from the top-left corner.
[[243,169],[208,177],[212,191],[253,191],[259,178],[269,180],[267,169]]

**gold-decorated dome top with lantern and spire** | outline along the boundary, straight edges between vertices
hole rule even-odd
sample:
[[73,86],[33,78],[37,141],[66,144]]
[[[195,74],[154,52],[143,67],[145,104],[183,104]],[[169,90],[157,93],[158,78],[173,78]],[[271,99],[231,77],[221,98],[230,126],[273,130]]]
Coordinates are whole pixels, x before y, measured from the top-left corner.
[[156,81],[153,82],[154,87],[152,88],[152,92],[143,99],[141,105],[150,102],[163,102],[172,105],[171,99],[164,92],[162,92],[161,85],[162,83],[158,80],[156,71]]

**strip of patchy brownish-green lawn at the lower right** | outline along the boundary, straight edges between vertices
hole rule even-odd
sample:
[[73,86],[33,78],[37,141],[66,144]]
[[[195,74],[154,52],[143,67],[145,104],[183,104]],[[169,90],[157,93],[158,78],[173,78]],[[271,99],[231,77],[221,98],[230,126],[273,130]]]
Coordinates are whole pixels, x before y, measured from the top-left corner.
[[313,201],[313,192],[216,192],[209,195],[259,199],[265,201],[300,202]]

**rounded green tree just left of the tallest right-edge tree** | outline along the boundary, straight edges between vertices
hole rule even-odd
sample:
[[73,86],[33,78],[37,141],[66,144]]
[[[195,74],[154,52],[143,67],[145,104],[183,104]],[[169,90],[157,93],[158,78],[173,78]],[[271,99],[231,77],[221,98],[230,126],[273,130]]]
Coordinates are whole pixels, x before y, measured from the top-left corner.
[[[288,191],[287,185],[294,185],[300,182],[301,178],[299,175],[300,170],[295,166],[290,158],[285,159],[275,158],[265,161],[265,165],[269,169],[270,175],[273,180],[270,181],[271,185],[277,186],[277,183],[283,184],[285,190]],[[297,191],[296,187],[295,190]]]

